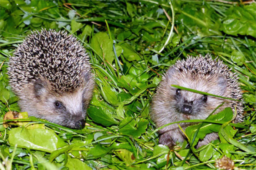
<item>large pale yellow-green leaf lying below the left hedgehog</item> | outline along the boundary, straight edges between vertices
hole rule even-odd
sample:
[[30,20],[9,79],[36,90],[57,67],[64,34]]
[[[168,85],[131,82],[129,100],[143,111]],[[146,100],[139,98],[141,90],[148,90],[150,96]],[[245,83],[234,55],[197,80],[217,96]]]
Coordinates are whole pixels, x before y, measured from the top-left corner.
[[11,146],[53,152],[66,143],[50,129],[12,128],[8,141]]

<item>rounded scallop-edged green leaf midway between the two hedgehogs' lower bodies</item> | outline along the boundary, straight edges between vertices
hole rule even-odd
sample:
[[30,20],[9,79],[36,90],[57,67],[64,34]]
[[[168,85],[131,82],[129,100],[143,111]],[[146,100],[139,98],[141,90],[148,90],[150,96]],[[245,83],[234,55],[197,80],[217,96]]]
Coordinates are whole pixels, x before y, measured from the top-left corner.
[[142,133],[146,132],[148,127],[148,120],[144,118],[133,119],[131,117],[126,117],[121,121],[119,125],[120,135],[132,135],[133,137],[140,137]]

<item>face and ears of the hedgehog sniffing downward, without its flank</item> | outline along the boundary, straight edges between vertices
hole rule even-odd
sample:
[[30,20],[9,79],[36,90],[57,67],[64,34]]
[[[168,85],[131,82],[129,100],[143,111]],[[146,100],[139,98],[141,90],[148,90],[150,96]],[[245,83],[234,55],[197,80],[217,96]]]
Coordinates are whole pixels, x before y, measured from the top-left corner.
[[34,102],[37,107],[33,112],[28,113],[30,116],[36,114],[37,117],[69,128],[84,128],[88,105],[85,96],[87,90],[88,88],[81,86],[75,92],[56,93],[51,90],[48,81],[36,81],[34,98],[37,100]]

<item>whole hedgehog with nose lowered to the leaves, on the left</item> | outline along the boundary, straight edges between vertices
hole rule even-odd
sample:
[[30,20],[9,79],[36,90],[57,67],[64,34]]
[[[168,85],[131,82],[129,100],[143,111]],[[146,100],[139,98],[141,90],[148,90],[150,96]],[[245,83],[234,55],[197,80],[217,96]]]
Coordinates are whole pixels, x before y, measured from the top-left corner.
[[94,78],[83,46],[65,31],[32,31],[9,59],[9,84],[22,112],[79,129]]

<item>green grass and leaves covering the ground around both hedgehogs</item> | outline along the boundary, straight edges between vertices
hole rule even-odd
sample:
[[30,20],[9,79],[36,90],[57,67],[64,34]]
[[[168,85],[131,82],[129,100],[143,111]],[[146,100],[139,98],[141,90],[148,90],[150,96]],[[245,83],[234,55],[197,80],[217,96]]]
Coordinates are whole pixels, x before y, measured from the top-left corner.
[[[172,12],[169,1],[29,2],[1,0],[0,121],[9,110],[19,111],[6,68],[32,30],[65,29],[76,36],[90,54],[96,87],[84,129],[26,113],[19,125],[1,123],[0,170],[214,169],[224,155],[236,168],[256,168],[255,3],[171,1]],[[185,130],[189,140],[175,150],[158,145],[149,112],[161,75],[178,59],[207,53],[238,74],[245,121],[232,124],[232,111],[225,109],[194,120],[201,123]],[[190,147],[209,129],[218,130],[220,140]]]

